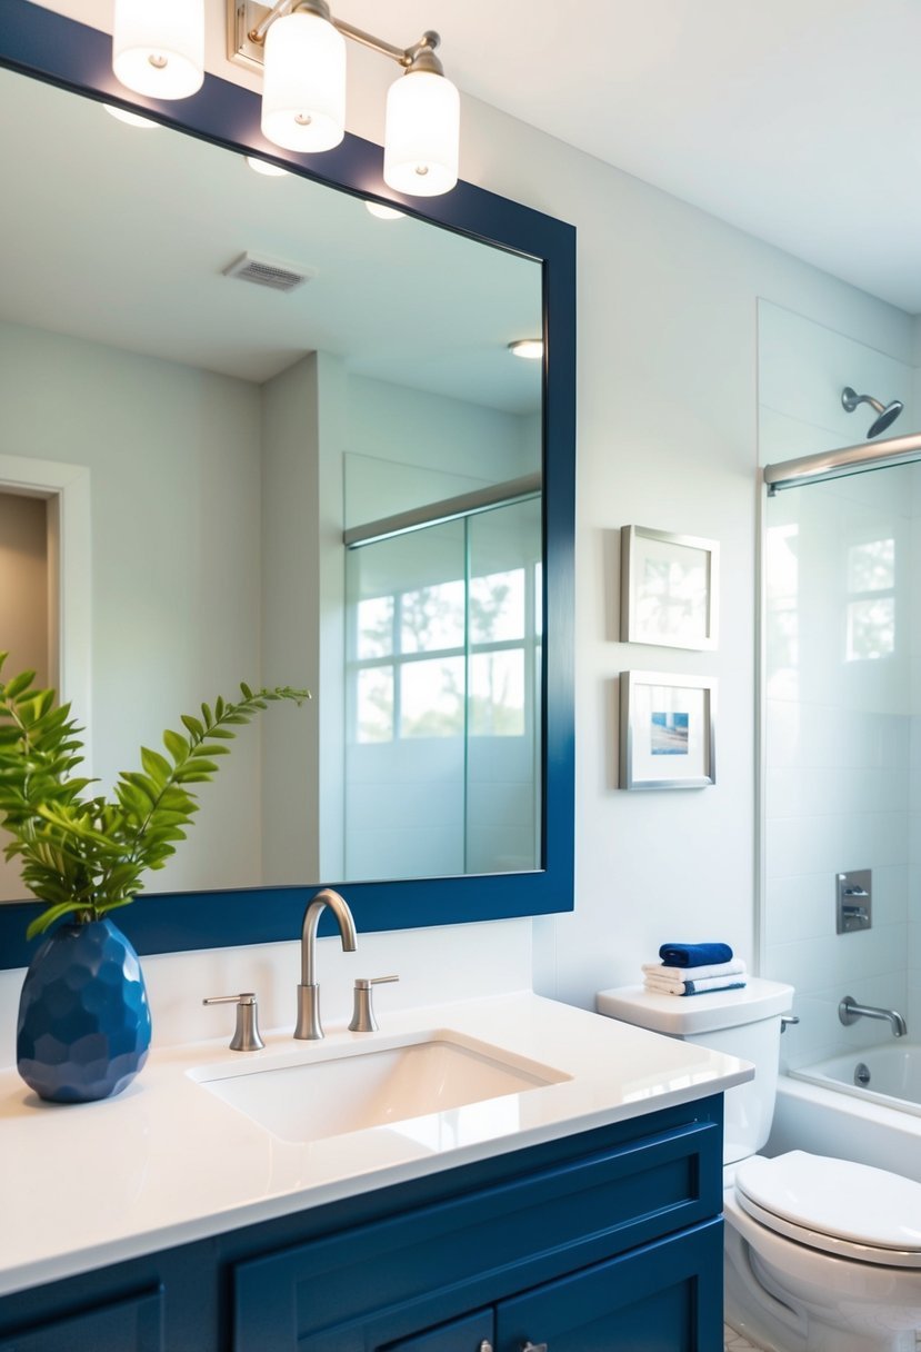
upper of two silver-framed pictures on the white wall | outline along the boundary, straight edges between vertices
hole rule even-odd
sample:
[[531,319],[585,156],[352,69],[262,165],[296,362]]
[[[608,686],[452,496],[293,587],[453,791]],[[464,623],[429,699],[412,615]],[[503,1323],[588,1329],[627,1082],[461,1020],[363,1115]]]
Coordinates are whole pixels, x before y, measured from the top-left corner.
[[714,539],[624,526],[621,642],[716,648],[718,571]]

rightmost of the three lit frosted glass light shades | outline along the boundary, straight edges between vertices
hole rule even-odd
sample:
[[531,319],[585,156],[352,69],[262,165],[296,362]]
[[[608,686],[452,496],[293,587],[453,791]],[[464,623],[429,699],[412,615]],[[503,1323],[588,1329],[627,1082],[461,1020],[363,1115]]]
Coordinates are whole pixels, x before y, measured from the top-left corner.
[[412,70],[388,91],[384,181],[413,197],[436,197],[458,181],[460,97],[444,76]]

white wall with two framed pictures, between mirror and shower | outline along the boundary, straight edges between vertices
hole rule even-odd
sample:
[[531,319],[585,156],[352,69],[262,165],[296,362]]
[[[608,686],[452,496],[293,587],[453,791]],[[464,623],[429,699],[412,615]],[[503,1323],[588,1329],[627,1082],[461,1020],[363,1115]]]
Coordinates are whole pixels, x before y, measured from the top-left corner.
[[[53,8],[109,23],[103,0]],[[223,5],[209,0],[213,68]],[[390,69],[350,53],[350,130],[381,139]],[[462,176],[578,228],[577,910],[535,922],[540,991],[590,1006],[633,982],[666,938],[754,942],[756,300],[898,352],[910,320],[778,249],[493,108],[463,99]],[[716,538],[721,641],[712,656],[616,641],[619,530]],[[616,788],[616,679],[720,679],[718,781]],[[483,952],[493,942],[482,927]],[[516,940],[512,936],[517,936]],[[529,922],[505,944],[529,942]],[[432,961],[446,938],[431,933]]]

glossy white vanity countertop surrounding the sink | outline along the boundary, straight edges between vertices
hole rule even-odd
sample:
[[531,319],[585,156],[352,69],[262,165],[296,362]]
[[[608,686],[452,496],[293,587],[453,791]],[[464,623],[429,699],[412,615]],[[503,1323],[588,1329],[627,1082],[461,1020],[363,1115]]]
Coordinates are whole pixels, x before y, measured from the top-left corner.
[[[22,1197],[14,1198],[12,1202],[5,1197],[7,1182],[0,1184],[0,1211],[5,1213],[4,1230],[8,1236],[5,1244],[11,1242],[9,1236],[16,1236],[15,1242],[20,1251],[16,1255],[8,1253],[0,1238],[0,1295],[261,1221],[290,1215],[307,1207],[324,1206],[428,1174],[459,1168],[492,1156],[643,1117],[720,1094],[751,1079],[754,1073],[747,1063],[735,1057],[647,1033],[531,992],[402,1011],[388,1019],[388,1028],[382,1029],[381,1034],[350,1034],[344,1029],[332,1029],[327,1030],[327,1040],[321,1044],[293,1042],[289,1030],[285,1030],[266,1036],[266,1051],[269,1063],[277,1059],[301,1060],[309,1056],[311,1049],[319,1049],[320,1055],[328,1056],[338,1046],[354,1045],[355,1040],[370,1048],[371,1040],[382,1044],[393,1042],[401,1036],[431,1028],[455,1029],[471,1038],[490,1042],[512,1057],[551,1065],[570,1079],[564,1084],[550,1084],[529,1090],[527,1094],[508,1096],[521,1101],[523,1113],[533,1117],[527,1126],[513,1130],[498,1126],[479,1140],[436,1152],[428,1149],[413,1152],[412,1145],[402,1138],[397,1140],[398,1133],[388,1126],[350,1133],[336,1140],[336,1146],[340,1146],[346,1156],[336,1176],[330,1175],[319,1182],[301,1182],[289,1187],[273,1184],[258,1195],[254,1188],[247,1191],[246,1187],[238,1187],[234,1192],[228,1184],[227,1197],[221,1197],[221,1187],[212,1186],[211,1190],[205,1190],[207,1198],[199,1207],[185,1206],[185,1214],[181,1214],[182,1207],[173,1207],[173,1214],[169,1213],[169,1207],[163,1215],[154,1214],[161,1205],[154,1176],[150,1180],[150,1202],[155,1205],[149,1203],[149,1214],[144,1214],[143,1206],[134,1207],[139,1214],[131,1222],[119,1224],[111,1234],[101,1234],[99,1238],[88,1238],[81,1215],[74,1214],[74,1209],[78,1207],[80,1171],[73,1174],[72,1195],[68,1195],[66,1188],[65,1191],[61,1191],[59,1186],[55,1188],[54,1184],[59,1184],[61,1179],[53,1179],[51,1195],[42,1197],[42,1160],[47,1157],[49,1141],[30,1141],[30,1126],[35,1121],[34,1096],[15,1071],[0,1072],[0,1149],[4,1149],[8,1160],[16,1159],[20,1165],[18,1176],[34,1184],[23,1186]],[[255,1063],[259,1056],[265,1057],[266,1053],[247,1053],[247,1060],[253,1059]],[[600,1063],[606,1063],[609,1057],[610,1069],[604,1064],[600,1069]],[[207,1160],[208,1164],[213,1164],[213,1155],[219,1148],[213,1138],[215,1122],[219,1124],[221,1137],[224,1133],[231,1136],[231,1153],[227,1155],[231,1169],[239,1163],[234,1152],[247,1151],[247,1145],[251,1145],[257,1155],[262,1151],[271,1157],[274,1149],[280,1155],[286,1153],[296,1159],[301,1148],[280,1144],[236,1109],[207,1095],[205,1110],[205,1102],[194,1098],[204,1091],[194,1084],[188,1073],[189,1069],[204,1064],[212,1068],[221,1063],[226,1063],[230,1072],[240,1073],[240,1053],[228,1052],[223,1042],[209,1041],[161,1049],[151,1053],[149,1065],[123,1095],[99,1105],[62,1106],[50,1110],[42,1106],[43,1118],[39,1119],[39,1126],[45,1128],[45,1134],[51,1138],[53,1151],[66,1151],[73,1145],[73,1153],[78,1157],[81,1136],[88,1132],[96,1134],[100,1128],[104,1128],[105,1133],[117,1133],[123,1124],[128,1128],[136,1125],[131,1119],[132,1117],[136,1119],[140,1114],[144,1121],[142,1134],[149,1142],[153,1138],[151,1152],[157,1152],[159,1142],[181,1145],[181,1152],[167,1163],[176,1165],[178,1175],[182,1169],[189,1171],[189,1179],[200,1163]],[[679,1084],[677,1082],[682,1079],[685,1065],[691,1067],[694,1079],[693,1083]],[[258,1063],[254,1064],[255,1068]],[[646,1096],[631,1098],[624,1090],[625,1084],[636,1083],[631,1082],[635,1071],[640,1072],[646,1084],[641,1091]],[[196,1110],[192,1115],[188,1113],[190,1103]],[[181,1111],[184,1107],[185,1115]],[[100,1110],[108,1115],[105,1124]],[[165,1122],[172,1114],[176,1115],[178,1128],[174,1129],[174,1141],[170,1142]],[[205,1119],[204,1128],[199,1132],[194,1129],[196,1115]],[[41,1136],[42,1132],[34,1134]],[[73,1140],[68,1140],[70,1136]],[[9,1140],[5,1140],[7,1137]],[[394,1141],[393,1157],[386,1157],[388,1138]],[[366,1142],[373,1144],[378,1153],[384,1146],[384,1159],[362,1160]],[[315,1146],[319,1149],[325,1144],[315,1142]],[[128,1160],[134,1163],[131,1156]],[[163,1175],[167,1176],[173,1179],[172,1172]],[[131,1207],[126,1206],[126,1211],[128,1210]]]

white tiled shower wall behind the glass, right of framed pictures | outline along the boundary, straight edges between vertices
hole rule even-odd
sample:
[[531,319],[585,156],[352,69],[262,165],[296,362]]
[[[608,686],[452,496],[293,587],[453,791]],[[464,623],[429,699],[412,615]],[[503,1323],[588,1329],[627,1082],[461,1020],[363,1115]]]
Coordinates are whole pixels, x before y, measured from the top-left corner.
[[[912,370],[790,311],[759,306],[763,464],[860,441],[866,427],[840,407],[844,384],[885,400],[906,397]],[[918,591],[914,492],[912,469],[887,470],[794,489],[767,508],[763,972],[797,987],[801,1022],[783,1042],[789,1064],[879,1041],[878,1023],[840,1023],[843,995],[895,1007],[907,1000],[921,804],[909,637]],[[894,633],[883,621],[875,644],[874,635],[860,638],[867,596],[858,576],[874,552],[894,557],[893,584],[880,588]],[[878,656],[862,656],[870,652]],[[874,925],[839,936],[835,876],[855,868],[872,868]]]

